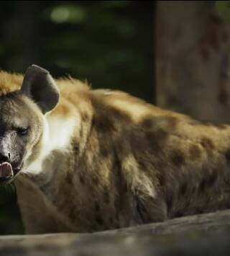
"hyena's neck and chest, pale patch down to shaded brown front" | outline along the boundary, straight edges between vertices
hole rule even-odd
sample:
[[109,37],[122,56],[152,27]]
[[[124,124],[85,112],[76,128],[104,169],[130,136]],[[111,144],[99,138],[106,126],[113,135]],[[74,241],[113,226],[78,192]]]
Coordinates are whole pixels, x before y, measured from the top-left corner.
[[91,224],[93,209],[85,203],[92,196],[86,197],[78,171],[83,171],[79,162],[91,133],[93,111],[90,102],[78,102],[60,104],[47,115],[42,154],[29,166],[27,175],[16,180],[27,233],[85,231]]

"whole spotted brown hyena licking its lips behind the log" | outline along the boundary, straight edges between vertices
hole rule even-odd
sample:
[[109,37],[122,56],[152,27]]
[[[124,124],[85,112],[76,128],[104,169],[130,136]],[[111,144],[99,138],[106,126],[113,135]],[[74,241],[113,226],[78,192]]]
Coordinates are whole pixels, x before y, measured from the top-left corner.
[[0,181],[29,234],[92,232],[230,206],[230,126],[125,92],[0,73]]

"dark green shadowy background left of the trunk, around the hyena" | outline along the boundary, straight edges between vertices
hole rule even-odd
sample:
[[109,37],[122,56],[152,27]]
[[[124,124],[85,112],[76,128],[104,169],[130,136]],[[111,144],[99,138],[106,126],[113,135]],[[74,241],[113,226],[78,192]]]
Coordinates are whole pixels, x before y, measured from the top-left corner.
[[[0,69],[35,63],[155,102],[154,1],[1,1]],[[14,187],[0,187],[0,234],[20,234]]]

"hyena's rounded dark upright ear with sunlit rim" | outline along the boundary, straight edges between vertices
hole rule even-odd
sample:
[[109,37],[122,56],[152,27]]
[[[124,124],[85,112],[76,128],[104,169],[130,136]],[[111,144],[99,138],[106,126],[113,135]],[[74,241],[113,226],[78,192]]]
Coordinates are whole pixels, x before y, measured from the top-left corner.
[[44,114],[59,100],[59,90],[50,72],[36,65],[29,66],[24,74],[21,92],[34,100]]

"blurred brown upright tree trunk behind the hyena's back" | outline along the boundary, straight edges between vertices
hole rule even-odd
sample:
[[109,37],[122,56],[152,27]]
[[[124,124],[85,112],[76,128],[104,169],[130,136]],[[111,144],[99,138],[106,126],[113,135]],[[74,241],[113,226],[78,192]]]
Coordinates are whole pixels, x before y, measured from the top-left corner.
[[214,1],[157,1],[157,105],[230,122],[229,27]]

